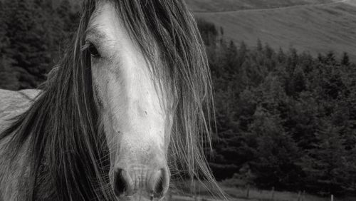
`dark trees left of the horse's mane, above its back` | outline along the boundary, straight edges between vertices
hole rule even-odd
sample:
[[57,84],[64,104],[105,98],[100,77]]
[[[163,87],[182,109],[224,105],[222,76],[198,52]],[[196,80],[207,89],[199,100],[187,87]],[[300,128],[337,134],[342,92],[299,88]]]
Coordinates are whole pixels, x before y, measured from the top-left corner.
[[0,86],[36,88],[58,61],[79,6],[69,0],[0,0]]

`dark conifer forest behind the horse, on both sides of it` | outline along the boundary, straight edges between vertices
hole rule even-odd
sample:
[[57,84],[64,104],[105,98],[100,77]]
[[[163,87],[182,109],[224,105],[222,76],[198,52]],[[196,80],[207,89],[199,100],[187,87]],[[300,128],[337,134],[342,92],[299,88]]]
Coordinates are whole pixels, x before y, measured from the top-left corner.
[[[38,88],[78,24],[68,0],[0,1],[0,88]],[[320,195],[356,192],[356,65],[347,53],[272,49],[198,20],[214,84],[217,180]],[[239,34],[239,33],[236,33]]]

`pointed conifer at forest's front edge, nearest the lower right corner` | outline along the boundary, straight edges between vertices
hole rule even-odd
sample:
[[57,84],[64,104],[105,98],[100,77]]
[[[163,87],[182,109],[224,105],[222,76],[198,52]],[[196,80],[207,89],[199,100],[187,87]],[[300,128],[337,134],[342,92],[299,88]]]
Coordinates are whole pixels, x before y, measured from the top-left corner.
[[305,182],[314,190],[337,194],[342,191],[340,183],[345,181],[347,153],[340,136],[340,128],[330,121],[322,121],[317,133],[318,143],[301,160],[306,175]]

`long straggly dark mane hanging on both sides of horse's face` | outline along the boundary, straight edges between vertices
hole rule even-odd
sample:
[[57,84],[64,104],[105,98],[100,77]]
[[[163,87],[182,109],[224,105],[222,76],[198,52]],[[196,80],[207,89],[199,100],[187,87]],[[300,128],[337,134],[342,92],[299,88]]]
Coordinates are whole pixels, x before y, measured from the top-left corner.
[[[202,151],[210,145],[211,78],[194,17],[183,0],[110,1],[152,63],[152,73],[164,76],[159,87],[169,88],[174,96],[172,175],[184,172],[192,181],[206,180],[219,189]],[[82,48],[95,0],[84,1],[82,8],[73,43],[43,93],[0,135],[3,139],[14,133],[7,150],[13,160],[29,141],[26,200],[43,198],[48,186],[53,189],[46,194],[58,200],[114,200],[108,180],[109,150],[93,98],[90,54]]]

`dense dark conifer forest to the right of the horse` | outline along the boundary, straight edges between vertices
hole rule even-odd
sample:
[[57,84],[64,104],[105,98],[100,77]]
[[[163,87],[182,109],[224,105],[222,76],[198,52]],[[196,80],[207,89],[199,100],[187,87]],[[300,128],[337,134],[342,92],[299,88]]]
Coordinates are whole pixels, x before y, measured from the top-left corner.
[[[199,20],[214,83],[211,169],[236,185],[356,190],[356,65],[347,53],[248,48]],[[239,33],[236,33],[239,34]]]

